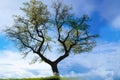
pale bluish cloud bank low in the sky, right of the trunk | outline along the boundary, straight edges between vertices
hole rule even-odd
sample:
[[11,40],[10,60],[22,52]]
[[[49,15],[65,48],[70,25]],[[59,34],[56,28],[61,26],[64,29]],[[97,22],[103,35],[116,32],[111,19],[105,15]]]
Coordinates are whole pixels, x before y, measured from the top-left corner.
[[[114,80],[116,76],[120,79],[119,48],[120,42],[103,43],[103,45],[99,45],[90,53],[71,56],[63,61],[60,67],[62,67],[63,71],[68,72],[64,75],[85,80],[98,80],[98,78],[99,80]],[[85,72],[81,71],[81,69],[84,69]]]

